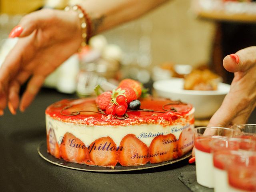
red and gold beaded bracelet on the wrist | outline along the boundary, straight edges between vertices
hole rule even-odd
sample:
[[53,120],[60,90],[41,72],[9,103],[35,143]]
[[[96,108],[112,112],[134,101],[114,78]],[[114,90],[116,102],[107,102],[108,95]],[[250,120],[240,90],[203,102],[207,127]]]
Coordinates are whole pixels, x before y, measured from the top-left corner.
[[[67,6],[65,8],[65,11],[73,10],[78,12],[78,17],[81,22],[81,28],[82,28],[82,38],[83,41],[81,43],[81,47],[83,48],[88,44],[89,39],[92,35],[92,22],[86,11],[80,6],[80,5],[74,5],[74,6]],[[80,48],[81,50],[81,48]]]

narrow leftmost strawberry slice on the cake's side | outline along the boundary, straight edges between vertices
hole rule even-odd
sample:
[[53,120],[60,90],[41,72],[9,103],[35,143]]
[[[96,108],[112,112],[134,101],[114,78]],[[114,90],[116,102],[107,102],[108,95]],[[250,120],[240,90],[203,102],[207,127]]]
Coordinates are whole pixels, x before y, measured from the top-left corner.
[[60,147],[58,145],[54,130],[52,128],[50,128],[48,131],[46,142],[47,152],[56,158],[60,158]]

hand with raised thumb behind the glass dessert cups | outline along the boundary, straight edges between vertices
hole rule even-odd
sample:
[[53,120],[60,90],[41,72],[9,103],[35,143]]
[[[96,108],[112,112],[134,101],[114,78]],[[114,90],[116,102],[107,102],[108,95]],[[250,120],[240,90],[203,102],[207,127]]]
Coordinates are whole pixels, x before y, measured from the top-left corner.
[[208,126],[244,124],[256,106],[256,46],[226,56],[223,66],[229,72],[234,72],[234,79],[230,92]]

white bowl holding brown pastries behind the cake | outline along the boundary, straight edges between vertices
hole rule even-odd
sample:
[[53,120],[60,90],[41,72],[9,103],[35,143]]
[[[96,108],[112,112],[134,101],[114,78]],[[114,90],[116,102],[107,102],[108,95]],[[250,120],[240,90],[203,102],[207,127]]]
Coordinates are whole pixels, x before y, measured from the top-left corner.
[[230,85],[224,83],[219,83],[216,91],[184,90],[182,78],[159,80],[154,82],[153,87],[160,97],[191,103],[196,110],[195,118],[211,117],[230,90]]

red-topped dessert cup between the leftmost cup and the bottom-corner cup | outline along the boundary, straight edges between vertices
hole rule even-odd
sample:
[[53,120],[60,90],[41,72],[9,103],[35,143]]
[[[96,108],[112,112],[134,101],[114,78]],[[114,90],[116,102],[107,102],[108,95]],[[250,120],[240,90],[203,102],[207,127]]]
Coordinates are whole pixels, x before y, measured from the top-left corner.
[[241,152],[256,151],[256,141],[243,138],[226,138],[212,142],[214,192],[228,192],[226,167],[236,160]]

